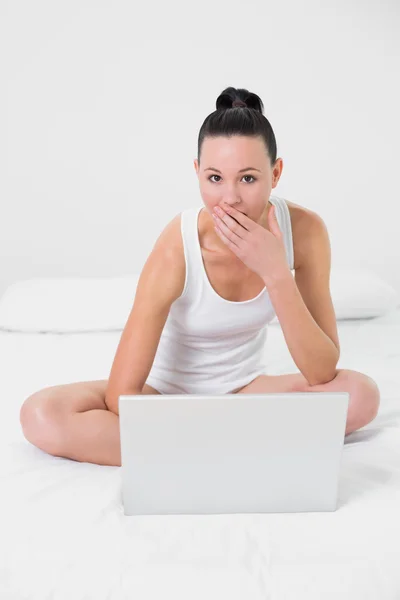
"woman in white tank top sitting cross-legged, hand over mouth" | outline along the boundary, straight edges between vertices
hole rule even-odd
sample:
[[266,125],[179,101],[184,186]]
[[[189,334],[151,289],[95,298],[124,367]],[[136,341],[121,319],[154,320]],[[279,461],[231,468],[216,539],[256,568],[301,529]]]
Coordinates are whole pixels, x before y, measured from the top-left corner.
[[[121,394],[347,391],[346,434],[375,418],[376,383],[336,369],[324,222],[271,195],[283,162],[256,94],[220,94],[194,165],[204,207],[175,216],[157,239],[109,378],[47,387],[23,403],[24,435],[42,450],[120,466]],[[298,373],[265,374],[275,315]]]

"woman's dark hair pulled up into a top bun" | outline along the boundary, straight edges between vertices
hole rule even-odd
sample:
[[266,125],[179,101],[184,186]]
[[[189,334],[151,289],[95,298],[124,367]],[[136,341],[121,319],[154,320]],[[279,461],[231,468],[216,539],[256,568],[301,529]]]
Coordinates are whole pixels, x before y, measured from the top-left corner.
[[217,110],[206,117],[200,128],[197,143],[197,160],[204,138],[233,135],[262,137],[269,155],[271,166],[276,162],[276,139],[270,122],[264,116],[264,105],[257,94],[244,88],[226,88],[218,96]]

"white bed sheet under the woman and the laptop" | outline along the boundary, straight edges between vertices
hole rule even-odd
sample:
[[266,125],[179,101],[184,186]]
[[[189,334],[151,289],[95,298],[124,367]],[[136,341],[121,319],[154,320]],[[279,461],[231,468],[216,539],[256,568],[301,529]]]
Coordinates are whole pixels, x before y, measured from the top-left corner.
[[[126,517],[121,471],[27,442],[23,400],[106,379],[121,332],[0,333],[0,598],[398,600],[400,309],[338,322],[338,368],[375,379],[376,419],[345,438],[332,513]],[[269,374],[296,372],[279,323]]]

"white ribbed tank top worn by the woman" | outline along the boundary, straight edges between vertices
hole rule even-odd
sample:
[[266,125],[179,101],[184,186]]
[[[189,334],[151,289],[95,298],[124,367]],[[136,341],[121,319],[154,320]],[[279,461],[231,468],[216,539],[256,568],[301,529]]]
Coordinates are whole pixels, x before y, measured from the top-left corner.
[[[271,196],[294,269],[286,201]],[[181,213],[186,261],[183,292],[171,305],[147,383],[162,394],[233,393],[265,373],[268,323],[276,316],[267,288],[243,302],[222,298],[207,277],[198,235],[203,206]]]

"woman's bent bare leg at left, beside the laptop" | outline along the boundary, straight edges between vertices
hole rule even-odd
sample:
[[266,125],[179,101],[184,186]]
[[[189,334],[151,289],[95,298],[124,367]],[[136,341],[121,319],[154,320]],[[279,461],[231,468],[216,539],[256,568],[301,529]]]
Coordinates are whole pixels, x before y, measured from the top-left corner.
[[[23,403],[20,422],[26,439],[54,456],[121,466],[119,416],[104,402],[107,380],[51,386]],[[158,393],[145,385],[143,393]]]

